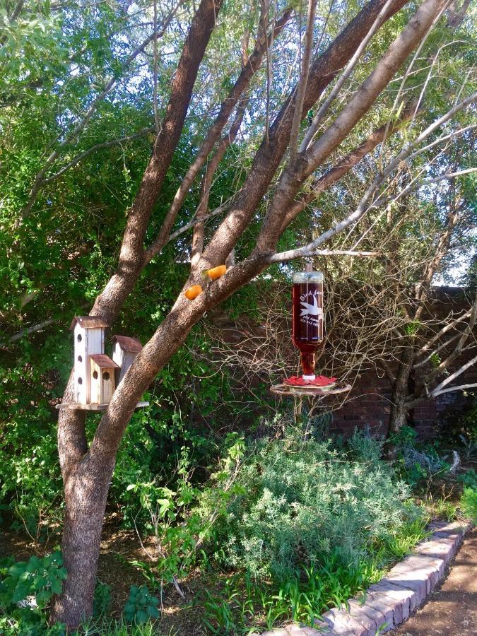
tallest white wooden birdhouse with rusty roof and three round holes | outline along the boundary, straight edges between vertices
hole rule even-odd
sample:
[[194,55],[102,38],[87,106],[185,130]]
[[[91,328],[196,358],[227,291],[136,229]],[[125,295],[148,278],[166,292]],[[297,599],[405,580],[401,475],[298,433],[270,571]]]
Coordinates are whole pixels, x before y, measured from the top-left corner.
[[74,334],[74,401],[90,404],[90,355],[105,351],[106,322],[99,316],[75,316],[70,330]]

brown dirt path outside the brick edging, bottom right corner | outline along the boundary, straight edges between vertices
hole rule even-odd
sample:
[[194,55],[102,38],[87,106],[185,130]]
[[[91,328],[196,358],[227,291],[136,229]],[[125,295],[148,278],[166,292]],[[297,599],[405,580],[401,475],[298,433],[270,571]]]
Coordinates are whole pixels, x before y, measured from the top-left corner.
[[477,635],[477,530],[464,538],[442,585],[428,596],[414,616],[391,633],[393,636]]

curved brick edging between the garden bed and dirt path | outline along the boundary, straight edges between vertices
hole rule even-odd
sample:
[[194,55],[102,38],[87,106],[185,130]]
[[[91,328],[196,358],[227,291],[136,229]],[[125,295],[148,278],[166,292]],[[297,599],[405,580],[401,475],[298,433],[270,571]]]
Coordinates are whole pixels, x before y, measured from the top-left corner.
[[333,608],[316,621],[316,628],[286,625],[261,636],[375,636],[389,632],[423,602],[457,553],[462,537],[471,528],[466,522],[432,522],[430,538],[420,541],[413,553],[395,565],[366,591],[365,602],[348,601],[349,611]]

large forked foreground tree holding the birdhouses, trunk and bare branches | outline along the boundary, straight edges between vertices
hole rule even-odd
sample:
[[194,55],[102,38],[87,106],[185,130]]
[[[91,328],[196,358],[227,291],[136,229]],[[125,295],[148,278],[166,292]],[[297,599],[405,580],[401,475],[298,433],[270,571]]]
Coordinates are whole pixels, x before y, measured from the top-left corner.
[[[69,577],[63,593],[54,602],[53,620],[61,620],[74,627],[91,611],[102,519],[119,442],[143,391],[184,343],[194,324],[206,311],[223,302],[255,276],[259,276],[266,267],[288,259],[316,254],[324,242],[363,218],[375,198],[384,196],[382,190],[399,165],[408,159],[435,129],[449,122],[459,110],[468,107],[475,99],[475,95],[470,93],[471,87],[466,86],[465,90],[463,87],[463,94],[457,104],[450,108],[447,105],[443,107],[440,117],[406,143],[395,158],[372,178],[370,186],[352,213],[340,220],[336,219],[322,235],[304,247],[295,248],[291,252],[276,252],[281,235],[293,220],[288,216],[288,212],[293,208],[295,197],[302,189],[310,187],[310,181],[318,176],[317,171],[326,166],[334,157],[334,153],[346,148],[348,141],[352,143],[353,135],[359,136],[362,133],[367,118],[371,117],[373,112],[375,117],[382,119],[381,124],[389,122],[389,126],[394,121],[396,112],[399,113],[401,93],[399,99],[391,105],[391,114],[389,111],[384,114],[391,97],[386,89],[400,69],[404,69],[406,79],[411,75],[411,66],[418,65],[420,48],[425,45],[432,30],[439,25],[440,18],[447,8],[447,4],[442,0],[425,0],[408,18],[409,14],[406,11],[400,12],[404,4],[405,0],[370,0],[326,46],[328,33],[325,31],[326,37],[318,35],[314,19],[317,3],[310,0],[307,8],[307,26],[300,47],[302,54],[297,85],[289,90],[283,99],[281,91],[274,90],[276,85],[272,81],[271,52],[276,37],[290,19],[292,11],[288,6],[278,6],[277,12],[274,13],[271,3],[261,3],[260,16],[257,16],[257,12],[252,13],[252,16],[257,16],[258,23],[254,49],[248,55],[247,44],[242,45],[242,68],[216,110],[218,114],[215,119],[208,130],[204,131],[203,142],[196,158],[187,168],[181,186],[158,225],[153,213],[158,199],[163,194],[167,170],[177,150],[187,111],[194,98],[194,83],[199,77],[206,81],[206,76],[200,76],[201,66],[206,59],[206,49],[214,30],[220,25],[220,16],[224,13],[224,8],[225,21],[227,10],[232,11],[232,8],[222,6],[222,0],[202,0],[196,8],[170,82],[167,107],[163,110],[160,122],[158,109],[154,109],[157,134],[151,158],[140,179],[134,200],[127,210],[117,269],[96,298],[91,314],[100,315],[107,324],[113,324],[124,302],[133,293],[144,268],[160,256],[167,242],[172,238],[182,237],[184,232],[194,225],[195,220],[190,217],[187,219],[186,216],[187,222],[174,230],[189,188],[204,168],[214,146],[218,153],[215,156],[220,159],[220,148],[227,143],[227,138],[233,141],[235,128],[238,130],[242,119],[252,120],[259,112],[250,100],[252,108],[249,108],[245,117],[241,113],[247,108],[247,90],[254,73],[265,58],[263,140],[258,148],[254,148],[251,140],[249,150],[253,153],[252,165],[230,201],[205,215],[199,206],[197,221],[200,225],[209,217],[216,220],[222,214],[225,218],[213,225],[213,233],[208,237],[204,249],[200,249],[201,240],[198,241],[194,266],[184,289],[201,281],[201,271],[223,264],[233,249],[236,249],[237,262],[218,281],[208,285],[204,293],[194,301],[190,302],[182,293],[178,295],[167,317],[146,343],[126,373],[122,384],[115,391],[89,445],[86,440],[84,413],[61,411],[58,445],[66,500],[62,550]],[[49,171],[62,157],[61,153],[88,129],[100,105],[105,104],[110,90],[117,85],[117,79],[122,76],[124,69],[137,61],[139,54],[149,45],[153,45],[153,85],[156,86],[160,73],[160,56],[157,53],[159,34],[162,33],[161,28],[165,33],[169,25],[175,35],[181,33],[186,16],[182,16],[182,21],[173,19],[179,6],[182,7],[182,4],[167,7],[161,27],[154,17],[153,23],[157,28],[153,30],[153,35],[143,40],[142,44],[126,57],[124,64],[118,67],[117,64],[113,64],[114,59],[108,60],[113,69],[112,77],[102,78],[102,89],[92,100],[85,100],[88,104],[86,112],[73,117],[69,129],[58,137],[54,143],[54,150],[47,155],[42,167],[36,172],[21,210],[16,211],[16,230],[20,234],[23,225],[28,225],[35,214],[40,213],[38,197],[41,196],[42,187],[47,179],[54,176],[49,175]],[[19,14],[16,11],[11,13],[11,23],[17,22],[22,7],[23,3],[20,4]],[[67,12],[70,7],[66,3],[60,8]],[[397,15],[393,28],[385,29],[384,25],[395,14]],[[325,15],[330,17],[331,12],[326,12]],[[121,21],[117,16],[114,19]],[[327,23],[328,20],[325,18],[324,22]],[[244,31],[243,39],[247,42],[250,33],[248,25]],[[378,32],[386,34],[382,40],[377,37]],[[300,30],[295,28],[295,33],[300,33]],[[315,42],[317,53],[313,55]],[[220,49],[219,45],[222,44],[216,42],[216,47]],[[363,59],[363,52],[367,47],[372,52],[371,61],[368,59],[358,66],[358,60]],[[167,46],[165,48],[167,50]],[[224,49],[230,50],[230,42],[225,41],[221,50]],[[413,52],[414,57],[409,61],[408,58]],[[113,57],[111,55],[111,58]],[[340,75],[341,69],[344,71]],[[164,69],[164,72],[167,73],[167,69]],[[355,90],[350,84],[352,73],[353,81],[358,86]],[[284,75],[285,73],[278,73],[278,84],[283,81]],[[329,91],[319,107],[316,107],[326,88],[335,79],[334,88]],[[207,107],[210,106],[211,99],[216,98],[218,94],[220,90],[206,90],[203,93]],[[153,101],[157,103],[156,99]],[[235,119],[230,124],[228,133],[225,133],[225,137],[220,141],[234,112]],[[272,112],[276,112],[276,115],[270,123]],[[309,125],[304,126],[303,122],[308,122]],[[81,155],[78,156],[81,158]],[[64,167],[73,165],[75,161],[76,158],[72,158]],[[209,160],[209,165],[212,172],[216,170],[214,155]],[[332,165],[330,169],[332,170]],[[64,174],[59,174],[60,172],[61,170],[58,170],[55,177]],[[205,177],[203,201],[209,190]],[[266,206],[262,206],[264,196],[268,196]],[[203,207],[206,208],[206,202]],[[144,247],[145,244],[147,247]],[[13,247],[18,247],[16,242]],[[64,401],[71,401],[71,391],[70,382],[66,387]]]

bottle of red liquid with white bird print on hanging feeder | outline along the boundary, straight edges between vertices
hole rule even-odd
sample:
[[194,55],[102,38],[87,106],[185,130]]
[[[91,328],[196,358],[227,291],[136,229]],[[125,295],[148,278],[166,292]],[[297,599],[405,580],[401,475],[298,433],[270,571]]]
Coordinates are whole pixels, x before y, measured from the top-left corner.
[[[312,272],[313,274],[314,272]],[[300,273],[294,278],[300,278]],[[305,277],[304,277],[305,278]],[[310,278],[312,278],[310,276]],[[316,281],[316,278],[313,277]],[[292,339],[300,349],[303,377],[314,379],[316,351],[323,340],[323,279],[319,282],[293,283]]]

